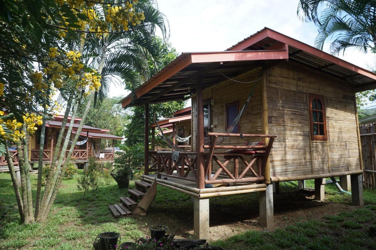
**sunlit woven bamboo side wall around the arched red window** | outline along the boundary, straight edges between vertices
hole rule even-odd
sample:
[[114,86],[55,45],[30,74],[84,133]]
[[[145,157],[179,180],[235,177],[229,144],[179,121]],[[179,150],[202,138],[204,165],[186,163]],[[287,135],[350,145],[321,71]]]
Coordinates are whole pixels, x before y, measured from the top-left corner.
[[[268,74],[268,127],[277,134],[271,176],[359,170],[353,87],[297,63],[285,62]],[[311,141],[307,94],[325,96],[327,141]]]

